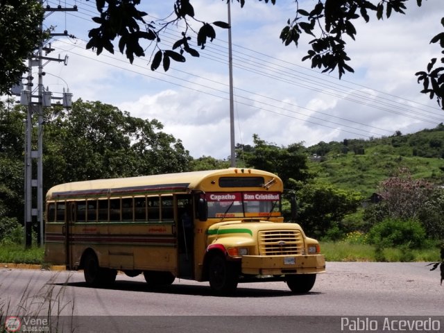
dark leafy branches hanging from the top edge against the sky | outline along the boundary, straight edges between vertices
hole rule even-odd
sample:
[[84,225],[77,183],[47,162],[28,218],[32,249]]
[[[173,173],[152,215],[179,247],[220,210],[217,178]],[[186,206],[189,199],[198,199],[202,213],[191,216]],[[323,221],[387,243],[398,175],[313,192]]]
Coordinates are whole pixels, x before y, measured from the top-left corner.
[[[225,1],[225,0],[224,0]],[[232,0],[226,0],[232,1]],[[259,0],[262,1],[262,0]],[[311,49],[307,51],[304,60],[311,60],[311,67],[323,69],[325,71],[338,71],[339,78],[346,71],[354,70],[348,62],[345,46],[348,39],[355,40],[357,29],[355,22],[363,19],[370,22],[370,15],[375,15],[377,19],[387,19],[393,12],[404,14],[406,3],[409,0],[317,0],[317,1],[294,1],[296,3],[296,17],[288,19],[287,24],[280,33],[280,39],[288,46],[295,44],[298,46],[302,34],[314,37],[309,44]],[[245,0],[237,0],[241,7],[244,7]],[[275,4],[275,0],[264,0],[265,3]],[[155,70],[162,63],[165,71],[169,69],[171,60],[185,62],[184,54],[198,57],[199,53],[192,48],[191,35],[196,35],[196,44],[200,49],[205,48],[207,40],[214,40],[216,30],[214,27],[228,28],[225,22],[207,23],[198,19],[191,0],[173,1],[173,12],[171,16],[159,22],[147,24],[144,21],[146,12],[136,9],[141,0],[100,0],[96,1],[96,7],[100,17],[94,17],[93,21],[99,24],[98,28],[89,31],[89,42],[87,49],[94,49],[100,54],[103,49],[114,53],[114,46],[111,41],[119,37],[119,51],[125,52],[130,62],[134,57],[145,56],[145,49],[139,42],[148,40],[153,45],[151,54],[151,69]],[[308,3],[308,4],[307,4]],[[305,5],[302,8],[300,5]],[[422,0],[416,0],[417,6],[422,5]],[[201,24],[198,31],[191,28],[189,21]],[[169,26],[178,26],[178,22],[185,25],[182,37],[173,43],[172,49],[161,49],[160,42],[162,33]],[[139,24],[145,24],[144,31],[141,31]],[[441,20],[444,26],[444,17]],[[191,35],[190,35],[191,34]],[[431,36],[432,37],[432,36]],[[439,43],[444,54],[444,32],[432,37],[431,43]],[[179,52],[175,51],[178,50]],[[436,67],[438,58],[432,58],[426,71],[416,73],[418,83],[422,81],[422,93],[429,94],[430,98],[436,97],[438,104],[444,98],[444,67]],[[444,63],[444,58],[441,58]],[[442,105],[444,109],[444,105]]]

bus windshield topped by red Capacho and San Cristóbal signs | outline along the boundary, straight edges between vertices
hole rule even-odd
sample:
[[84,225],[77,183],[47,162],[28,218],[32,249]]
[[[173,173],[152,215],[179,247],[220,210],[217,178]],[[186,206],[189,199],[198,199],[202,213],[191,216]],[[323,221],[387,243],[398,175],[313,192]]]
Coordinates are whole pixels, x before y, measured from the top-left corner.
[[280,216],[278,192],[212,192],[205,198],[210,219]]

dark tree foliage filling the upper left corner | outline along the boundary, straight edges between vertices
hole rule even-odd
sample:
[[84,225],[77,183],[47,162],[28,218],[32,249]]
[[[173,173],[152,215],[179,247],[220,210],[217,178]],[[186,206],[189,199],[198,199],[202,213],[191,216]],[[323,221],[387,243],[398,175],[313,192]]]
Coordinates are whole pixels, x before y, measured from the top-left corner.
[[0,94],[8,94],[28,70],[24,60],[46,36],[43,15],[39,1],[0,1]]

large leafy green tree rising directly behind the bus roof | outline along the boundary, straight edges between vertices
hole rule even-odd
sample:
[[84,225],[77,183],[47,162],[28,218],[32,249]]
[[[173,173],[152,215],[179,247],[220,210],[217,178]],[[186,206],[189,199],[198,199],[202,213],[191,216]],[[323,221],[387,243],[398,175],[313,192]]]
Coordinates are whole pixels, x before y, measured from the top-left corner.
[[[189,169],[191,157],[162,123],[99,101],[54,109],[45,130],[47,182],[130,177]],[[55,114],[55,115],[54,115]]]

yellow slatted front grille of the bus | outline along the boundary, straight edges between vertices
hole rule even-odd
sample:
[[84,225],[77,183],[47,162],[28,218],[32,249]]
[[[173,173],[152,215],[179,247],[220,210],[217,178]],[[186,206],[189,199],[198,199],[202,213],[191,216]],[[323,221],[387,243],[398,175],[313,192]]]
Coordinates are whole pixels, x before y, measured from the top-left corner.
[[260,255],[302,255],[304,240],[299,230],[259,231]]

